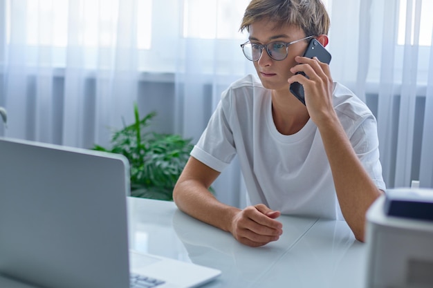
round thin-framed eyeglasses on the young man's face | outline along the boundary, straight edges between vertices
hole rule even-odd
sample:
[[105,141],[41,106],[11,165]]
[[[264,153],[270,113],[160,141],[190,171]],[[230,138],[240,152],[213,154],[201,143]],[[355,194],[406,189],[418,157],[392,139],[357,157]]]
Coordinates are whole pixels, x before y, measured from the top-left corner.
[[268,52],[270,58],[277,61],[282,61],[287,57],[288,46],[313,37],[314,36],[308,36],[291,42],[277,41],[277,42],[271,42],[269,44],[256,44],[248,41],[244,44],[241,44],[241,48],[243,51],[243,55],[245,55],[246,59],[250,61],[259,60],[261,57],[261,52],[263,51],[264,48],[266,48],[266,52]]

